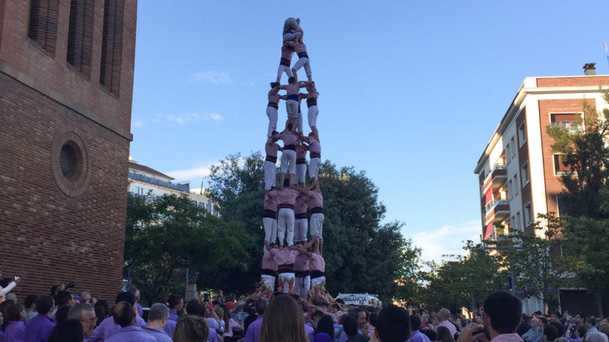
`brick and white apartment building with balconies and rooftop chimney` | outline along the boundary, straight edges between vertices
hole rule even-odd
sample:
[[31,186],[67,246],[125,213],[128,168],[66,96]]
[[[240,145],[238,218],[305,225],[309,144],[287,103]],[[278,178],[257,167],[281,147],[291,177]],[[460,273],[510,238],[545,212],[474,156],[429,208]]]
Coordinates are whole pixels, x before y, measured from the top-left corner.
[[[568,172],[560,155],[552,153],[548,125],[572,131],[585,129],[583,104],[607,108],[599,86],[609,86],[609,75],[595,75],[586,65],[583,76],[527,77],[516,92],[495,133],[477,162],[483,242],[509,235],[512,230],[532,233],[538,214],[560,215],[560,175]],[[563,293],[568,294],[563,296]],[[561,289],[561,307],[585,312],[585,291]],[[593,304],[594,305],[594,304]],[[542,310],[541,300],[524,301],[525,312]]]

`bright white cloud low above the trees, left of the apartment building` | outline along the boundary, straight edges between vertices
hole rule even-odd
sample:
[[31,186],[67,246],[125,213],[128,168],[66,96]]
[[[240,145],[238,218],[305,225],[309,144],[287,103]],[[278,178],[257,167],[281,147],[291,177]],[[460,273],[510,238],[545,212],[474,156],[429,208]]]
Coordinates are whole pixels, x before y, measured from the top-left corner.
[[472,220],[414,234],[406,232],[405,235],[412,239],[414,246],[421,248],[421,259],[439,263],[445,254],[465,254],[465,250],[462,248],[465,245],[463,241],[478,242],[481,232],[480,221]]

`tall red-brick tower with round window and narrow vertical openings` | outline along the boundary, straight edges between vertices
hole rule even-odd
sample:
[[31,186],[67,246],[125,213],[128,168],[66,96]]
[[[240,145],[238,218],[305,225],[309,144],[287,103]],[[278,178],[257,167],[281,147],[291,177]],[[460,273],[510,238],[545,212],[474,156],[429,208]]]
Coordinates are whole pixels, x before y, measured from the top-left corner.
[[0,268],[121,289],[136,0],[0,1]]

